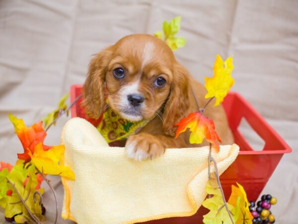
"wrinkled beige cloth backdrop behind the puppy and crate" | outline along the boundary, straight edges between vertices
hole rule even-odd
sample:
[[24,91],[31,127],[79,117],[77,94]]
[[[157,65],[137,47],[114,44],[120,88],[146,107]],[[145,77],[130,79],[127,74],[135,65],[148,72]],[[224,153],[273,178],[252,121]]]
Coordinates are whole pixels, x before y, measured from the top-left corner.
[[[22,148],[7,113],[28,125],[51,112],[72,84],[85,79],[91,55],[124,35],[153,33],[181,15],[187,39],[177,59],[199,81],[212,75],[216,54],[234,57],[239,92],[286,139],[285,155],[264,193],[279,224],[297,224],[298,208],[298,1],[297,0],[0,0],[0,160],[14,163]],[[49,131],[59,144],[67,118]],[[262,141],[248,125],[243,134]],[[53,184],[62,202],[59,179]],[[54,200],[45,193],[48,223]],[[60,206],[61,208],[61,206]],[[0,223],[3,210],[0,209]],[[59,221],[62,223],[71,223]]]

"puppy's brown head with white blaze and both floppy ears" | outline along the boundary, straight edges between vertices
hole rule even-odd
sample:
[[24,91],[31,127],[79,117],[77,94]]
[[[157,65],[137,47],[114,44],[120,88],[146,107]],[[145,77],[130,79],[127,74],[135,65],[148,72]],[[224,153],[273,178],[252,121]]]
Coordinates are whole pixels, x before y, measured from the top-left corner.
[[105,96],[113,111],[132,121],[162,112],[164,132],[174,135],[174,123],[189,108],[188,85],[188,72],[163,41],[134,34],[91,60],[82,104],[93,118],[105,109]]

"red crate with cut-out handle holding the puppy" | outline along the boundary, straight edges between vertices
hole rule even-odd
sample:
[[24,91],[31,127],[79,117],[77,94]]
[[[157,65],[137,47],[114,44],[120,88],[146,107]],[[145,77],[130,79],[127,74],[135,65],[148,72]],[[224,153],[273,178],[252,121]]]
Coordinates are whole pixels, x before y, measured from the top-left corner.
[[[81,94],[81,87],[82,85],[71,87],[71,102]],[[72,117],[86,118],[79,105],[80,102],[81,99],[71,109]],[[223,106],[235,143],[240,147],[238,157],[220,177],[224,195],[228,199],[231,193],[231,185],[238,182],[244,187],[248,200],[256,201],[284,153],[290,153],[292,149],[239,94],[229,93],[224,99]],[[238,127],[242,118],[245,118],[254,131],[264,140],[263,150],[253,150],[239,132]],[[96,125],[94,119],[86,119]],[[201,207],[197,214],[191,217],[155,220],[147,222],[147,224],[199,224],[202,223],[202,216],[207,212],[208,210]]]

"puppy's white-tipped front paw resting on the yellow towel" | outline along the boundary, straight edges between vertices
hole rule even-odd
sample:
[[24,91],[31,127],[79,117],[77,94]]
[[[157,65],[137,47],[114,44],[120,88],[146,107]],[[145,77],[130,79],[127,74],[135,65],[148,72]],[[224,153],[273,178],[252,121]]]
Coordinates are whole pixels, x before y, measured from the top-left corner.
[[130,136],[126,141],[126,153],[129,158],[141,161],[161,156],[165,151],[165,145],[148,133],[139,133]]

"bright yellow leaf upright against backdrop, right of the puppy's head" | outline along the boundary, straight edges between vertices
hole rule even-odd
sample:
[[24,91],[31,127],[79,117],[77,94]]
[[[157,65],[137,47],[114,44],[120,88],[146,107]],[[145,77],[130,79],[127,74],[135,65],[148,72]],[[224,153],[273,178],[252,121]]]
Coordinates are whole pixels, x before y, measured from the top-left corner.
[[231,77],[233,68],[232,57],[223,61],[221,56],[217,55],[213,67],[214,76],[211,78],[205,77],[205,87],[208,91],[205,98],[215,97],[214,106],[218,106],[224,101],[224,97],[234,84],[234,79]]

